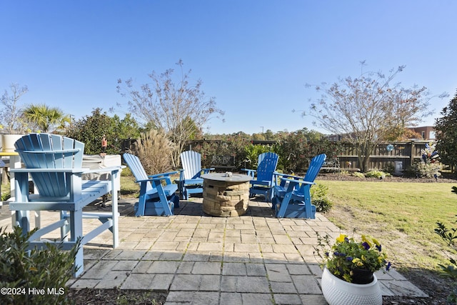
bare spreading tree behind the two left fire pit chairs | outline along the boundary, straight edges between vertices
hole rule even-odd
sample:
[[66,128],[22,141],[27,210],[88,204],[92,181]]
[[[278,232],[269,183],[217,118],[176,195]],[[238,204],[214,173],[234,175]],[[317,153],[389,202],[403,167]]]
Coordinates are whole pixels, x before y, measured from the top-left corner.
[[[174,81],[174,69],[162,74],[153,71],[149,74],[151,84],[143,84],[135,89],[132,79],[118,80],[117,91],[129,99],[131,113],[137,114],[154,129],[164,131],[175,144],[172,154],[176,167],[179,154],[184,150],[186,141],[194,134],[201,133],[204,124],[212,116],[224,115],[216,108],[214,97],[206,98],[202,91],[202,81],[189,83],[189,74],[184,73],[183,61],[176,63],[181,68],[181,78]],[[124,84],[124,86],[122,86]]]

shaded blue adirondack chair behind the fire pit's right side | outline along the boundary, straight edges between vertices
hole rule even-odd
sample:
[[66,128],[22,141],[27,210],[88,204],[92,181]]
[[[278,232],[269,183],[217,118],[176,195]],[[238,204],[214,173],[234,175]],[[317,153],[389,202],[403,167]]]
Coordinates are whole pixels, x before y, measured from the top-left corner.
[[258,155],[257,169],[241,169],[247,171],[253,180],[250,181],[249,196],[263,195],[266,201],[271,201],[271,188],[276,184],[275,171],[278,165],[278,154],[266,152]]

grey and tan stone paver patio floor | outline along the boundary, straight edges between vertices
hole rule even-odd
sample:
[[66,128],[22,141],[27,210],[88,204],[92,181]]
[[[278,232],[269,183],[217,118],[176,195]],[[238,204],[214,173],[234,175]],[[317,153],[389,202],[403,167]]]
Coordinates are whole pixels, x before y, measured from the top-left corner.
[[[322,214],[276,219],[270,204],[250,201],[247,214],[221,218],[192,198],[175,216],[135,217],[134,202],[119,203],[119,248],[109,246],[109,231],[86,245],[84,273],[71,288],[169,291],[166,304],[326,304],[313,245],[316,232],[336,237],[340,230]],[[42,223],[59,217],[41,216]],[[0,221],[5,225],[11,220]],[[426,296],[395,270],[376,276],[383,295]]]

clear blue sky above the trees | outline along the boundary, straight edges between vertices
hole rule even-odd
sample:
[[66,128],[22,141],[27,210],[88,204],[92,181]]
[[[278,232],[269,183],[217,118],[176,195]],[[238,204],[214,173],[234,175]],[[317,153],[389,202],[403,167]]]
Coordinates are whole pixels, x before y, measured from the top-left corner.
[[[457,89],[457,1],[0,0],[0,91],[29,87],[21,104],[59,106],[76,119],[124,104],[117,79],[148,81],[179,59],[225,111],[211,134],[313,126],[306,110],[331,83],[406,65],[403,86],[426,86],[433,124]],[[109,113],[112,115],[111,113]]]

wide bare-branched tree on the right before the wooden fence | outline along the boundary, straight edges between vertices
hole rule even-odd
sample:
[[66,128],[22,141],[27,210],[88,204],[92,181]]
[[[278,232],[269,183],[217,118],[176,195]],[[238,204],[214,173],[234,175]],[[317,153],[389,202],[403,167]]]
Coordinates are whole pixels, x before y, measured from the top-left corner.
[[323,95],[303,115],[313,116],[316,126],[356,146],[358,164],[362,171],[368,171],[368,160],[377,144],[402,134],[408,126],[417,126],[432,113],[428,106],[433,96],[425,87],[406,89],[401,83],[391,84],[403,69],[391,69],[388,76],[365,72],[356,79],[347,77],[331,86],[315,86]]

